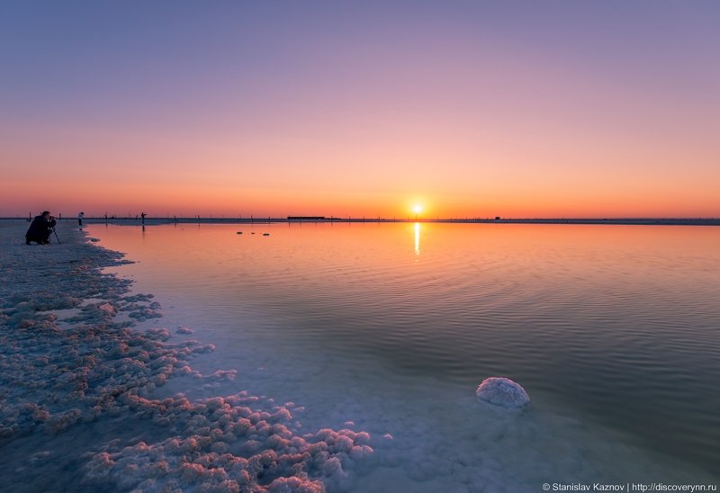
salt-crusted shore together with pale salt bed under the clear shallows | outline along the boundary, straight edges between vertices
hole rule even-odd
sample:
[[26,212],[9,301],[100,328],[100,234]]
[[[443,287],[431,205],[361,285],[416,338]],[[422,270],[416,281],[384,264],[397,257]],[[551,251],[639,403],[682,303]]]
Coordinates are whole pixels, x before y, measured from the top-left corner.
[[532,395],[509,409],[477,399],[475,388],[319,365],[279,345],[230,354],[218,333],[177,323],[192,307],[161,317],[155,297],[103,273],[124,262],[120,254],[64,224],[61,245],[27,247],[26,226],[0,222],[3,489],[495,492],[716,482]]

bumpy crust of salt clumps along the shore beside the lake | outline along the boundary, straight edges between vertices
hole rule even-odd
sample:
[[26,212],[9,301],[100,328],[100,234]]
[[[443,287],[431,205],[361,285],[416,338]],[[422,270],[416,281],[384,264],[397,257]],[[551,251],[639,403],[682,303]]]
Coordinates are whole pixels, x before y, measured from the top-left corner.
[[[61,245],[25,246],[25,228],[24,223],[0,228],[0,453],[5,457],[63,434],[68,439],[58,444],[92,435],[88,430],[136,427],[140,436],[130,440],[98,433],[95,442],[85,444],[89,452],[69,462],[77,468],[73,489],[122,491],[344,490],[352,486],[355,471],[374,460],[365,432],[320,429],[296,435],[295,415],[302,408],[292,402],[278,406],[247,392],[200,400],[183,394],[154,398],[168,379],[211,385],[234,379],[237,372],[202,375],[190,363],[214,346],[173,342],[166,328],[137,327],[160,317],[160,306],[151,295],[130,295],[130,281],[102,272],[126,262],[121,254],[62,226]],[[143,436],[148,430],[152,433]],[[16,461],[22,467],[4,471],[4,486],[37,489],[24,478],[27,468],[59,460],[51,450],[33,452]],[[67,486],[49,480],[43,489]]]

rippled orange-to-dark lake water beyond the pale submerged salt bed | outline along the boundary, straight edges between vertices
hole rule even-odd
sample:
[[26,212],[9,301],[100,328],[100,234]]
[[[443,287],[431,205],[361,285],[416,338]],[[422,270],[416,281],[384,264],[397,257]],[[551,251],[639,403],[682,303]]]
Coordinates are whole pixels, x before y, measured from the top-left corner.
[[90,234],[139,261],[118,272],[229,346],[236,334],[237,344],[469,394],[508,376],[536,408],[706,471],[720,463],[720,229],[182,224]]

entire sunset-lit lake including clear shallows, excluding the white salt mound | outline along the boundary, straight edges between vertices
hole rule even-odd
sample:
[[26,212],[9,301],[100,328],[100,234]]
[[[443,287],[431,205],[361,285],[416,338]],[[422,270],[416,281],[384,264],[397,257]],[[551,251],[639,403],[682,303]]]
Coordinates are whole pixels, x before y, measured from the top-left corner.
[[[218,346],[197,364],[239,371],[221,391],[292,400],[308,428],[392,435],[358,489],[717,478],[720,229],[88,230],[137,261],[113,272],[157,296],[159,325]],[[479,404],[490,376],[531,408]]]

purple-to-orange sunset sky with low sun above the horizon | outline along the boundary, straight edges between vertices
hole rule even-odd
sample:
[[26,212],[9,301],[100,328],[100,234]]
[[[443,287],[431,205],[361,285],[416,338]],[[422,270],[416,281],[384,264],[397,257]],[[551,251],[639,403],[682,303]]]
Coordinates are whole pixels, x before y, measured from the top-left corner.
[[0,2],[0,216],[720,217],[720,2]]

